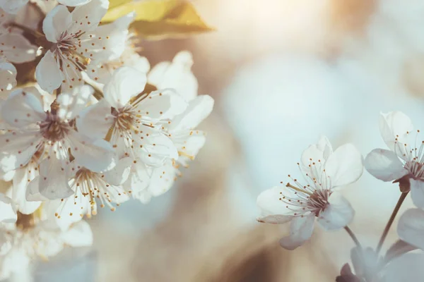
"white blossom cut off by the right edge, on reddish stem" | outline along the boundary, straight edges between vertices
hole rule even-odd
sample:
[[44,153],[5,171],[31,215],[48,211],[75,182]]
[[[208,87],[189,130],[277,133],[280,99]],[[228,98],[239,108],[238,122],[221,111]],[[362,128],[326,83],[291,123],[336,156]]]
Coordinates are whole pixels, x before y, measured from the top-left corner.
[[411,119],[400,111],[381,114],[380,133],[389,149],[374,149],[365,158],[365,168],[375,178],[399,182],[411,190],[413,203],[424,208],[424,140],[413,130]]

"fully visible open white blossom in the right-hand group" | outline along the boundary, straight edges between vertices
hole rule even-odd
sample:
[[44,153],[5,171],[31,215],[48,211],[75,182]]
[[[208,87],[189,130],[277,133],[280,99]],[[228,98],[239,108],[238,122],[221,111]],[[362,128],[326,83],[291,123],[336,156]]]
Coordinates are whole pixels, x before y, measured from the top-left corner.
[[343,228],[351,222],[351,204],[336,188],[355,182],[363,172],[362,156],[351,144],[338,147],[322,137],[302,153],[298,164],[302,180],[274,187],[259,195],[259,222],[285,223],[291,221],[290,235],[280,244],[288,250],[299,247],[312,235],[314,221],[326,230]]

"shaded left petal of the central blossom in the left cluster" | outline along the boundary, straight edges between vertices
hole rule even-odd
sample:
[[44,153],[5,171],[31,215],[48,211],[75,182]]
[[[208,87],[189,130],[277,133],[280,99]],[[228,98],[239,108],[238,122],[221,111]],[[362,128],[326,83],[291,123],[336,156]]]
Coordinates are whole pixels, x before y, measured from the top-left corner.
[[105,99],[88,106],[76,118],[78,132],[93,138],[104,138],[114,123],[110,111],[110,104]]

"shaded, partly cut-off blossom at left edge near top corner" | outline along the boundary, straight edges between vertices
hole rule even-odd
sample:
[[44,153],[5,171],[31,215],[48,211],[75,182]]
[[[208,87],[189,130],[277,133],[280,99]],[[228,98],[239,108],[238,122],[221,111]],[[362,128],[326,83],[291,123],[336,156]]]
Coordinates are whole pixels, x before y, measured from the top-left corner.
[[15,29],[8,27],[13,18],[0,8],[0,56],[5,56],[11,63],[33,61],[37,47]]

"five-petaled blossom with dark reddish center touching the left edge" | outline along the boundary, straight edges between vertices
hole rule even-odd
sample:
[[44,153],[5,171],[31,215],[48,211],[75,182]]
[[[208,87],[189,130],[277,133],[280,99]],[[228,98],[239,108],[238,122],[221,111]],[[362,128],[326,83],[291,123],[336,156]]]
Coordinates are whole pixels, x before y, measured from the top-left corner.
[[79,164],[93,171],[115,165],[114,149],[102,139],[93,139],[76,131],[74,119],[86,106],[93,90],[78,87],[61,93],[49,111],[34,94],[15,90],[1,106],[1,116],[14,130],[0,135],[0,170],[13,171],[30,161],[40,164],[40,187],[49,199],[68,197],[65,166],[69,153]]

